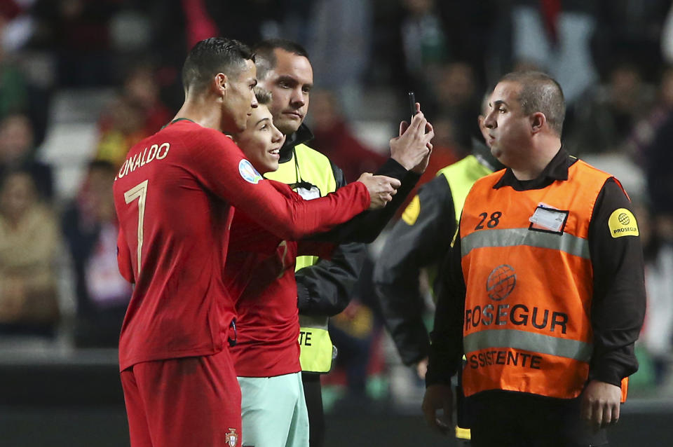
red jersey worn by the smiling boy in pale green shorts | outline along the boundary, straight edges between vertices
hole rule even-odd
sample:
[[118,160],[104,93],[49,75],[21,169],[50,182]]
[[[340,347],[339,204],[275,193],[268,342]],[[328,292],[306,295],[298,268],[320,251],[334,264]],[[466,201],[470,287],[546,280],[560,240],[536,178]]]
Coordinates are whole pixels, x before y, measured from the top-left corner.
[[[291,191],[289,186],[287,190]],[[225,277],[232,296],[240,295],[237,342],[231,348],[236,376],[274,377],[301,371],[294,278],[297,246],[254,224],[242,212],[233,219]],[[321,257],[329,256],[333,247],[299,242],[301,254]]]

